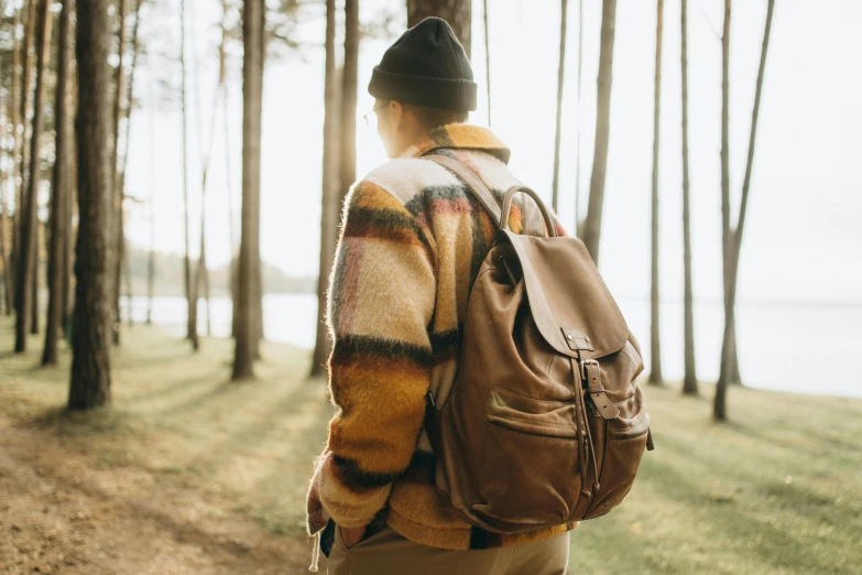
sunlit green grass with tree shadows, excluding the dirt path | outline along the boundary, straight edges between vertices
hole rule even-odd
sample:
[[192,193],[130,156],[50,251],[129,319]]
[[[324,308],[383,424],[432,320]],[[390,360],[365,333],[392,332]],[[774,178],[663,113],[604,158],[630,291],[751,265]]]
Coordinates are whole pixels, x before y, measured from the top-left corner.
[[[11,347],[6,319],[0,340]],[[310,462],[331,415],[324,383],[305,379],[307,352],[264,345],[259,380],[236,384],[229,341],[192,355],[135,327],[114,351],[112,408],[66,414],[68,352],[36,368],[40,344],[0,356],[0,415],[94,465],[200,493],[209,517],[304,540]],[[572,532],[571,573],[862,573],[861,400],[733,388],[732,421],[717,425],[707,399],[646,397],[656,451],[622,506]]]

